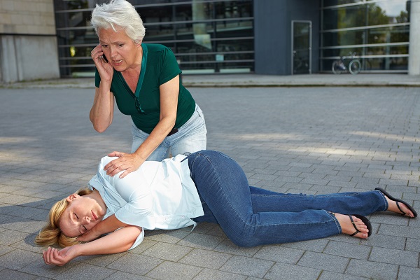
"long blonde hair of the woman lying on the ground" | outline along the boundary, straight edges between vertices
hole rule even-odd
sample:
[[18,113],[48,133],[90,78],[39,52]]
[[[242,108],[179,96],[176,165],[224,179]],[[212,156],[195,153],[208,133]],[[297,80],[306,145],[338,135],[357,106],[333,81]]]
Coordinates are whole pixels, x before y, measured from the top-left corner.
[[[90,193],[92,193],[92,190],[89,188],[81,188],[76,192],[80,196],[89,195]],[[36,244],[43,246],[58,244],[60,247],[80,244],[80,241],[77,241],[77,237],[66,237],[59,228],[59,218],[66,210],[67,205],[69,205],[67,197],[52,205],[48,214],[47,225],[35,237]]]

